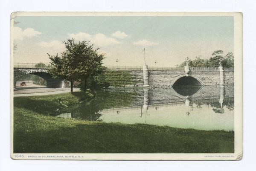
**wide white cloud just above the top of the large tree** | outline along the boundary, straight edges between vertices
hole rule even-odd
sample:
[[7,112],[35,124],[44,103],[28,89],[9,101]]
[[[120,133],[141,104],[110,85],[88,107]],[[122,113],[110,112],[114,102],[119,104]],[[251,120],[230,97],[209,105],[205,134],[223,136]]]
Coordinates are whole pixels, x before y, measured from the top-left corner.
[[108,46],[113,44],[122,44],[122,42],[117,41],[115,38],[109,38],[101,33],[96,35],[89,35],[84,32],[79,32],[78,34],[68,34],[70,38],[74,38],[76,41],[90,41],[96,46]]

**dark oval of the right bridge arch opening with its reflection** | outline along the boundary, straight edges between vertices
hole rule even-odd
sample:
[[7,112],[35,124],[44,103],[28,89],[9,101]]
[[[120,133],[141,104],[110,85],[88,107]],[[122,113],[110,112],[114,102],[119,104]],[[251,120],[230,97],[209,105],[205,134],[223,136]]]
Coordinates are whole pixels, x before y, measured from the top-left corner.
[[201,87],[202,84],[197,79],[191,76],[184,76],[177,79],[177,81],[175,81],[172,86],[172,88],[182,96],[192,96],[193,94],[198,92]]

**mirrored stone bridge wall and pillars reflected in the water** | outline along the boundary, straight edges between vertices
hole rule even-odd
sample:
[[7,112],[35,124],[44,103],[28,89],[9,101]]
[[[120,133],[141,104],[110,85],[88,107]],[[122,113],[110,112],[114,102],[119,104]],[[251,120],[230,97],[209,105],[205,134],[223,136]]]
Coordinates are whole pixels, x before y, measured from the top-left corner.
[[123,97],[123,94],[120,93],[116,96],[109,96],[108,102],[104,104],[104,109],[111,108],[113,104],[115,104],[114,106],[122,106],[125,103],[131,104],[132,107],[143,106],[143,109],[147,110],[148,106],[156,104],[185,104],[189,106],[191,102],[195,101],[199,104],[216,102],[220,104],[219,106],[221,107],[222,104],[227,101],[234,101],[234,85],[201,86],[196,93],[190,96],[180,95],[172,87],[145,87],[137,89],[110,88],[105,91],[131,93],[133,95]]

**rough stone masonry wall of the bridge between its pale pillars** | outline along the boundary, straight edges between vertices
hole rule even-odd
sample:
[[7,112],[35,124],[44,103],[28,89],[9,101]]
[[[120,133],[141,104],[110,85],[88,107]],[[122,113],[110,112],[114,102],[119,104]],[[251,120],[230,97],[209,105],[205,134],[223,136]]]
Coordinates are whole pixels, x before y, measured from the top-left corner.
[[[48,71],[36,71],[36,73],[48,74],[46,72]],[[36,75],[36,73],[31,74]],[[172,87],[175,81],[185,76],[185,71],[148,70],[148,84],[150,87]],[[197,79],[202,85],[220,84],[219,71],[190,71],[189,76]],[[108,77],[109,82],[115,83],[115,85],[111,85],[114,87],[143,87],[144,85],[143,70],[108,70],[106,77]],[[49,87],[59,87],[61,84],[60,81],[54,82],[51,78],[49,78],[48,82],[47,85]],[[234,84],[234,71],[224,71],[224,84]]]

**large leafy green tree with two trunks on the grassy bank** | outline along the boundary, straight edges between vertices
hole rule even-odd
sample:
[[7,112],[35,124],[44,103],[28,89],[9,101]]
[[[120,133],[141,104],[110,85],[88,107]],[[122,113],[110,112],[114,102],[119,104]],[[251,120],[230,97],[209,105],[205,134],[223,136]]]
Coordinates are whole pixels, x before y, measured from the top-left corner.
[[66,50],[61,56],[50,56],[52,68],[49,70],[54,78],[66,79],[71,82],[71,93],[73,92],[73,80],[84,82],[83,90],[87,90],[87,79],[93,79],[96,75],[104,72],[102,66],[104,55],[98,53],[98,49],[93,49],[90,41],[75,42],[68,39],[63,43]]

